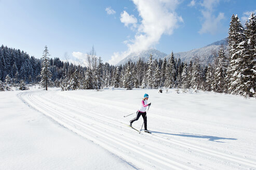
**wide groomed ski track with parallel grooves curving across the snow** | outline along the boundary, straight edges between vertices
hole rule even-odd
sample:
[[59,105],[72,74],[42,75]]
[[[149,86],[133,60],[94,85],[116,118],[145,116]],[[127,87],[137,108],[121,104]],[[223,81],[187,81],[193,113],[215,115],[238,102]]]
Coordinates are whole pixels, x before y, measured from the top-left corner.
[[[111,117],[103,110],[122,110],[128,106],[91,97],[68,96],[60,91],[28,91],[19,94],[31,108],[93,143],[118,155],[138,169],[256,169],[256,161],[239,154],[229,154],[194,141],[183,141],[164,133],[147,134],[124,125],[123,115]],[[101,112],[83,105],[100,106]],[[151,112],[154,115],[154,112]],[[127,122],[125,122],[127,123]],[[200,122],[198,122],[200,123]],[[214,166],[212,166],[214,165]]]

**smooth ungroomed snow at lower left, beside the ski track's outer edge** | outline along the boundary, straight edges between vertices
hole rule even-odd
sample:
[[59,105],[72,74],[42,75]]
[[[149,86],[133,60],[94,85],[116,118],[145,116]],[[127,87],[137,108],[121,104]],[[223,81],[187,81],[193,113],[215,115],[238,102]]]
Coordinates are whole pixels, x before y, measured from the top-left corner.
[[20,100],[32,94],[0,92],[1,170],[135,169]]

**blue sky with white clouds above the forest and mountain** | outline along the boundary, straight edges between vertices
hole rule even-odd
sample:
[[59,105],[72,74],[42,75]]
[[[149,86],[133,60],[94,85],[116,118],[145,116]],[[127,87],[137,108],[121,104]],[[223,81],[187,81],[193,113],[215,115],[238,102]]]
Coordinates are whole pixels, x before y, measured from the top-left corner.
[[256,1],[231,0],[0,0],[0,44],[41,58],[86,62],[94,46],[103,62],[155,48],[167,54],[227,37],[232,14],[244,23]]

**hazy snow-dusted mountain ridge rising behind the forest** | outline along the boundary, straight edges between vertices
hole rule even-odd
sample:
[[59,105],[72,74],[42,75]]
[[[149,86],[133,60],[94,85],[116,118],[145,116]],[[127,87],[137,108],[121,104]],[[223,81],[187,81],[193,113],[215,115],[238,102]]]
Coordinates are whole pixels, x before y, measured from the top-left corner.
[[[213,61],[213,54],[218,55],[218,51],[221,48],[221,46],[223,46],[224,50],[226,51],[228,46],[227,38],[222,39],[220,41],[216,41],[202,48],[198,48],[198,49],[194,49],[186,52],[174,53],[174,57],[177,59],[180,58],[181,61],[191,61],[194,58],[198,57],[201,62],[210,63]],[[144,50],[138,53],[131,53],[125,59],[121,60],[117,65],[120,65],[120,64],[124,65],[128,61],[137,62],[139,58],[141,58],[142,61],[146,62],[150,58],[150,54],[153,55],[153,59],[157,59],[157,60],[169,58],[169,56],[171,55],[171,54],[160,52],[156,49]]]

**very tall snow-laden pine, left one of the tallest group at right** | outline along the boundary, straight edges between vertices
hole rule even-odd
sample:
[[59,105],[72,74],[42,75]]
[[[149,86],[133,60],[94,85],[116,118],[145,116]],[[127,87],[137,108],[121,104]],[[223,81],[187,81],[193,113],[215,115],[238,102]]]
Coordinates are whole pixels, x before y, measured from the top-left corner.
[[[230,22],[230,29],[228,31],[228,46],[230,53],[230,65],[228,67],[227,75],[228,75],[228,92],[231,94],[238,94],[238,87],[240,86],[240,78],[241,78],[241,56],[238,49],[238,46],[244,41],[244,28],[236,15],[232,15]],[[241,49],[240,49],[241,50]]]

